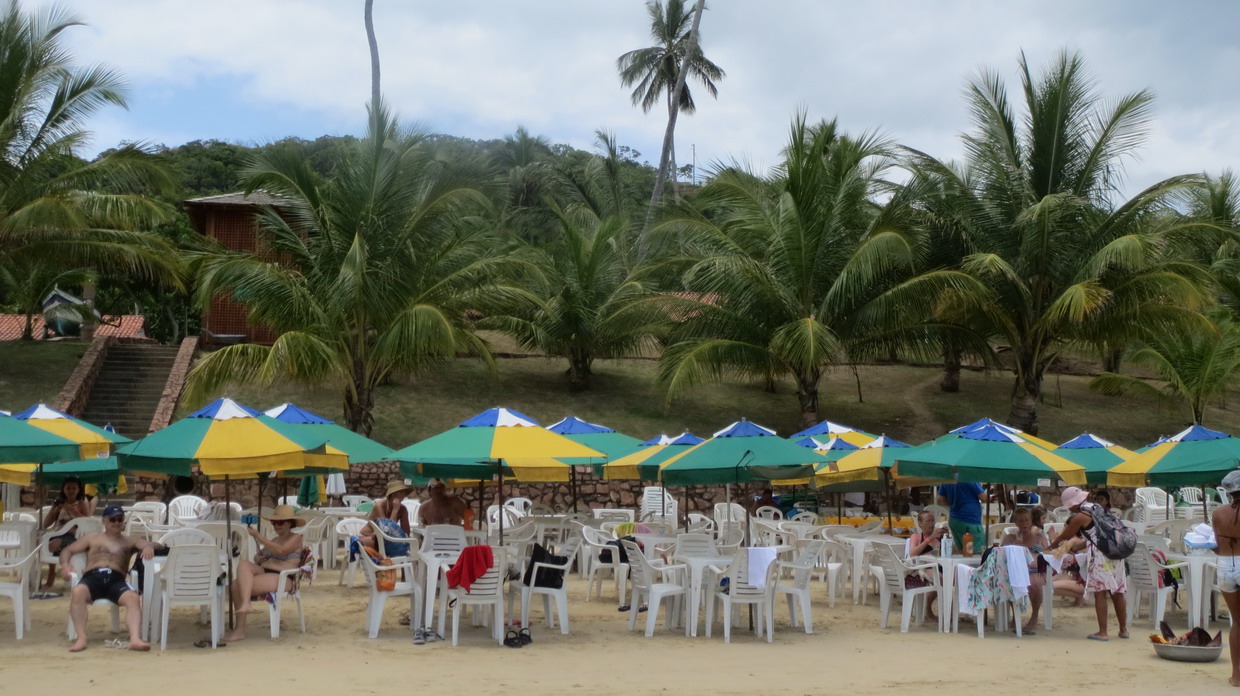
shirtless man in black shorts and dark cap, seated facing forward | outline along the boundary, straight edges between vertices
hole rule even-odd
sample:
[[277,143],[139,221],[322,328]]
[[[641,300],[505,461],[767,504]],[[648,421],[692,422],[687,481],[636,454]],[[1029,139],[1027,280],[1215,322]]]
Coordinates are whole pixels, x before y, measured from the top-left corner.
[[150,560],[155,557],[155,548],[159,545],[123,535],[125,511],[119,505],[109,505],[103,510],[103,527],[104,531],[86,535],[61,551],[61,574],[66,582],[72,582],[69,574],[73,555],[87,555],[86,572],[82,574],[82,581],[73,586],[69,596],[69,618],[78,636],[69,653],[86,650],[86,608],[95,599],[110,599],[124,607],[125,625],[129,628],[129,649],[150,650],[150,643],[144,643],[138,630],[141,599],[125,578],[134,552],[140,552],[144,560]]

